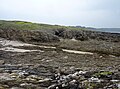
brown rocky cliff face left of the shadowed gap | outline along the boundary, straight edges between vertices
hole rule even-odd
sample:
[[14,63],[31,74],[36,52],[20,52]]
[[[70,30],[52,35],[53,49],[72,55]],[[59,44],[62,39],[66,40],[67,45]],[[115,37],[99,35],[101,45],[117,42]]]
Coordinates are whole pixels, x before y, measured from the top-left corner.
[[43,31],[0,29],[0,37],[23,42],[57,42],[59,38]]

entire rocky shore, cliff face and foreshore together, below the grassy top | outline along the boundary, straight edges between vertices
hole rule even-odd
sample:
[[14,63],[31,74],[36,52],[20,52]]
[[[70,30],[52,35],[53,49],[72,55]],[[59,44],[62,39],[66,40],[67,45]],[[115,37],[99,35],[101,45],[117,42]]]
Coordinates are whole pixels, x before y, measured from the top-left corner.
[[120,34],[3,27],[0,89],[120,89]]

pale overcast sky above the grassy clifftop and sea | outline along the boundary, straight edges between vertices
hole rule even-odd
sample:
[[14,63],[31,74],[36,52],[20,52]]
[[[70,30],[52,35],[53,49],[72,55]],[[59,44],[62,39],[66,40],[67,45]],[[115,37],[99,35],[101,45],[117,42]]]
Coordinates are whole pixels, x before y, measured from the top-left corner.
[[0,19],[120,27],[120,0],[0,0]]

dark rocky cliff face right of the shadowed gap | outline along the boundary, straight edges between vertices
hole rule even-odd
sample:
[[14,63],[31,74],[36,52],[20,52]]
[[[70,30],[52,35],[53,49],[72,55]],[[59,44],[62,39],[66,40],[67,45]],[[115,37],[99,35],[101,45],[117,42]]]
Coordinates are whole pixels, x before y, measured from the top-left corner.
[[59,34],[60,37],[63,38],[75,38],[77,40],[89,40],[89,39],[96,39],[96,40],[106,40],[106,41],[113,41],[118,42],[120,41],[120,34],[116,33],[107,33],[107,32],[97,32],[97,31],[87,31],[87,30],[65,30]]

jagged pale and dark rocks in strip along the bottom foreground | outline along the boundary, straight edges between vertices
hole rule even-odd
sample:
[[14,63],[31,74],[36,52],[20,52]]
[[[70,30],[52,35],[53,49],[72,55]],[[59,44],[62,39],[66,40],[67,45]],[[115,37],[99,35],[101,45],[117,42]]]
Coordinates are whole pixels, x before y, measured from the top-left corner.
[[120,70],[53,70],[43,65],[1,64],[0,89],[120,89]]

